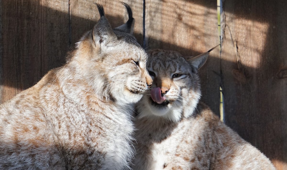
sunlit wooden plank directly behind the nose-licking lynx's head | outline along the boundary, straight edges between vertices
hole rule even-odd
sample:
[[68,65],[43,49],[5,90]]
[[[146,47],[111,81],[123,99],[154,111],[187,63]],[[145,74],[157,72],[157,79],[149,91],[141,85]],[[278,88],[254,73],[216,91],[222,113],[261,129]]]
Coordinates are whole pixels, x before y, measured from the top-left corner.
[[[219,44],[217,5],[214,0],[146,0],[148,49],[179,51],[185,56],[204,53]],[[199,71],[202,101],[219,115],[219,48]]]

